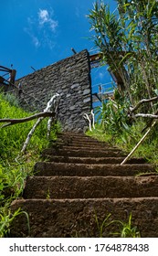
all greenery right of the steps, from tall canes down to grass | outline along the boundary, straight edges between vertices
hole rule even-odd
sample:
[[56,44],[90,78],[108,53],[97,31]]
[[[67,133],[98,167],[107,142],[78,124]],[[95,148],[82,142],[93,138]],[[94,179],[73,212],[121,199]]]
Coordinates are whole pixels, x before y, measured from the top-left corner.
[[[129,116],[131,107],[158,91],[158,2],[156,0],[117,0],[111,13],[106,1],[96,1],[90,10],[90,30],[94,44],[103,55],[102,63],[109,65],[117,80],[114,100],[102,102],[93,135],[117,144],[130,152],[142,138],[147,119]],[[154,113],[158,102],[145,103],[134,112]],[[134,155],[157,161],[157,125]],[[91,134],[92,134],[91,133]],[[150,144],[150,146],[149,146]],[[154,153],[153,153],[154,152]]]

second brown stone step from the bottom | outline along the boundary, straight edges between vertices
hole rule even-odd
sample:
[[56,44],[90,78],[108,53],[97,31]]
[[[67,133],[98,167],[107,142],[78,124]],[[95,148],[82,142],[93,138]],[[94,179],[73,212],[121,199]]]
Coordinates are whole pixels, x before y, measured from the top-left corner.
[[30,176],[24,198],[158,197],[158,176]]

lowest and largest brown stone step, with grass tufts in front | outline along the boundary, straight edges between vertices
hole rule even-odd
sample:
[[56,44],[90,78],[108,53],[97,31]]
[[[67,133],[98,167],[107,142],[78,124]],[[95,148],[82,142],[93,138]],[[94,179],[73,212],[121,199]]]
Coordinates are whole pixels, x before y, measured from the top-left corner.
[[[158,237],[158,197],[18,199],[11,206],[12,211],[17,208],[28,213],[31,232],[28,233],[26,215],[20,214],[11,226],[10,233],[14,238],[121,237],[116,233],[122,226],[118,226],[118,222],[110,224],[111,220],[128,223],[130,214],[132,227],[138,227],[142,238]],[[109,214],[111,217],[100,233]]]

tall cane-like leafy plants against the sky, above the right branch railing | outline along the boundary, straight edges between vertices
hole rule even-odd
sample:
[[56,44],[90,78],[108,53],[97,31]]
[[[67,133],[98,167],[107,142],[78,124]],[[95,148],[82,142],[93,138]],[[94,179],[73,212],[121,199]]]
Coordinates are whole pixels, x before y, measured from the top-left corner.
[[[106,2],[106,1],[105,1]],[[131,104],[151,98],[158,89],[158,3],[156,0],[118,0],[111,13],[104,1],[90,10],[92,40],[111,72],[120,77],[118,88]],[[152,104],[147,111],[156,110]],[[146,109],[145,109],[146,110]]]

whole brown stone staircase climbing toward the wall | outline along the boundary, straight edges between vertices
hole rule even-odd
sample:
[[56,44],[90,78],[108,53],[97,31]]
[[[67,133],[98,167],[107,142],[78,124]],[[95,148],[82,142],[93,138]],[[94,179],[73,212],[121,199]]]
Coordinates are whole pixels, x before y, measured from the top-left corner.
[[[118,148],[80,133],[62,133],[43,152],[35,176],[26,179],[23,198],[12,203],[19,215],[12,237],[113,237],[117,222],[137,226],[142,237],[158,237],[158,176],[142,158],[126,165]],[[140,174],[142,174],[140,176]],[[111,224],[110,224],[111,223]]]

